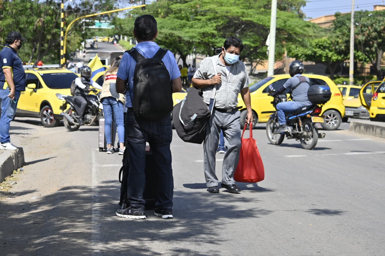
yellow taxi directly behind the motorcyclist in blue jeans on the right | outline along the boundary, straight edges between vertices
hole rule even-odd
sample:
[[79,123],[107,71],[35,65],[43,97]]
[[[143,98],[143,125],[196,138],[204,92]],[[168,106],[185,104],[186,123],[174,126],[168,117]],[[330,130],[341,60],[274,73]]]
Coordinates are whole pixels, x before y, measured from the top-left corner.
[[[341,125],[342,117],[345,115],[345,106],[342,104],[342,94],[338,90],[335,83],[327,76],[303,74],[310,79],[310,85],[328,85],[331,91],[330,100],[322,106],[322,112],[320,116],[323,116],[324,122],[321,123],[322,128],[325,130],[336,130]],[[266,123],[269,120],[271,114],[276,110],[271,104],[273,101],[272,96],[268,96],[269,85],[273,85],[275,90],[278,90],[283,84],[290,78],[290,75],[273,75],[263,78],[254,85],[251,85],[251,108],[253,109],[254,123]],[[289,91],[285,91],[289,93]],[[241,108],[241,126],[244,126],[246,119],[246,106],[243,103],[241,95],[238,97],[238,105],[243,106]]]

